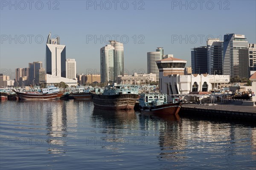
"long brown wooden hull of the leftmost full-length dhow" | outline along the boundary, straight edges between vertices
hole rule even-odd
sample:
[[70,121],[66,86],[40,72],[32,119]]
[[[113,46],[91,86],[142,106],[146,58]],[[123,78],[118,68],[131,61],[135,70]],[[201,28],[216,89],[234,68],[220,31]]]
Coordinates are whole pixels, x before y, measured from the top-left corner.
[[54,93],[29,93],[29,92],[16,92],[20,99],[23,100],[49,100],[56,99],[58,92]]

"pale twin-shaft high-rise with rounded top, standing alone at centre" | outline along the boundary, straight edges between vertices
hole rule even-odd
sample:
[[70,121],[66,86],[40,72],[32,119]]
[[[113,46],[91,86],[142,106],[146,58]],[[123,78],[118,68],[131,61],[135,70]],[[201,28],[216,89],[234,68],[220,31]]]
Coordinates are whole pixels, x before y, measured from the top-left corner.
[[101,82],[116,82],[117,76],[124,75],[124,47],[116,41],[100,49]]

